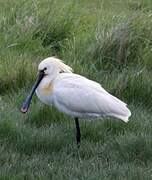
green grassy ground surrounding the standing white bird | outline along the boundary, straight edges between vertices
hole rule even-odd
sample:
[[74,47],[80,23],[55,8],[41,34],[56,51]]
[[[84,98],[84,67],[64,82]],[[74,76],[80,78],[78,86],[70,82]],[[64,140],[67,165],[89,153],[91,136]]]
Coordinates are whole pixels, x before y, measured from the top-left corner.
[[[74,121],[35,97],[38,63],[57,56],[128,103],[128,124]],[[152,179],[151,0],[0,0],[0,179]]]

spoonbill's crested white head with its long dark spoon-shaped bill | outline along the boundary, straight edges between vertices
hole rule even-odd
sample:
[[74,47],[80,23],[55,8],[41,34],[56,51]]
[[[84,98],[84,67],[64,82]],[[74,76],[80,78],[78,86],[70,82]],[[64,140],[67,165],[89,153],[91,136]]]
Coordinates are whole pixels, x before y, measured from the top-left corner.
[[40,62],[38,66],[38,77],[29,96],[22,105],[21,112],[26,113],[28,111],[32,96],[42,79],[47,76],[50,80],[53,80],[59,73],[72,73],[72,68],[55,57],[49,57]]

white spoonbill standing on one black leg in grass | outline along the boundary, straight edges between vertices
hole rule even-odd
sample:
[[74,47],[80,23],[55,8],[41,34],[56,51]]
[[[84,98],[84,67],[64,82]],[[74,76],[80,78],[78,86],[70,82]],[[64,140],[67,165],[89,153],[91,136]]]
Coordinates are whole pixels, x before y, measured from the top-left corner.
[[60,59],[44,59],[39,64],[38,71],[38,78],[21,111],[28,111],[36,90],[38,98],[43,103],[54,105],[59,111],[75,119],[78,145],[81,137],[78,118],[111,116],[127,122],[131,116],[124,102],[109,94],[100,84],[72,73],[72,68]]

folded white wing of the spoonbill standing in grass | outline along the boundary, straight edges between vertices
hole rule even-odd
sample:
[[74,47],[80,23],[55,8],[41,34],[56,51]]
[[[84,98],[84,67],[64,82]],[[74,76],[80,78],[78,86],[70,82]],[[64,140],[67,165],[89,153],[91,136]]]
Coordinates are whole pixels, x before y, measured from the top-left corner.
[[100,84],[75,74],[65,75],[55,83],[54,99],[73,112],[115,117],[129,113],[126,104],[109,94]]

